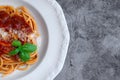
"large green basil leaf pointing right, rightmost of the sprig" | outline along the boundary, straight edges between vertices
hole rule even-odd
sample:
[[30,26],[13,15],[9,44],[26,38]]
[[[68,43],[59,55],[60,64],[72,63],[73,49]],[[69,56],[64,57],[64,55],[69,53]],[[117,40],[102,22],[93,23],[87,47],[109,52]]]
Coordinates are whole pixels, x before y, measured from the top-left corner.
[[30,43],[26,43],[21,47],[21,50],[23,52],[32,53],[37,50],[37,46]]

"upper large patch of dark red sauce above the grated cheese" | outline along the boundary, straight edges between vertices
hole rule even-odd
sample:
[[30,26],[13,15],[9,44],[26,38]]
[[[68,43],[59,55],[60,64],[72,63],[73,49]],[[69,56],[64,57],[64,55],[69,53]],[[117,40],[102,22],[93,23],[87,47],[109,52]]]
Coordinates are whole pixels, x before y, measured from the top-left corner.
[[22,30],[27,34],[32,33],[31,26],[22,16],[17,14],[10,16],[5,11],[0,11],[0,28],[4,28],[6,31],[9,31],[9,29],[12,28],[14,30]]

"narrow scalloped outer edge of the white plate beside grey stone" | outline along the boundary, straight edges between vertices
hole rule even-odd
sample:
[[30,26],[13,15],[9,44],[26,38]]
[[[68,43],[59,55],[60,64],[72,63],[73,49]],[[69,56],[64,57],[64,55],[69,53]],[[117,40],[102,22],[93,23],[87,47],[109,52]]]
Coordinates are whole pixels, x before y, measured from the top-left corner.
[[57,69],[55,69],[52,72],[52,75],[48,76],[48,78],[47,78],[47,80],[53,80],[60,73],[60,71],[62,70],[62,68],[64,66],[65,59],[66,59],[66,56],[67,56],[68,47],[69,47],[69,43],[70,43],[70,33],[69,33],[69,30],[68,30],[68,25],[67,25],[67,21],[66,21],[64,12],[63,12],[60,4],[56,0],[46,0],[46,1],[48,1],[48,3],[56,10],[57,16],[58,16],[59,21],[61,23],[61,27],[63,29],[63,36],[64,36],[64,39],[63,39],[63,44],[64,45],[61,47],[62,58],[60,58],[60,60],[58,62],[58,64],[59,63],[61,63],[61,64],[59,64]]

